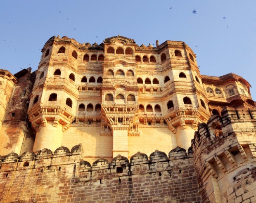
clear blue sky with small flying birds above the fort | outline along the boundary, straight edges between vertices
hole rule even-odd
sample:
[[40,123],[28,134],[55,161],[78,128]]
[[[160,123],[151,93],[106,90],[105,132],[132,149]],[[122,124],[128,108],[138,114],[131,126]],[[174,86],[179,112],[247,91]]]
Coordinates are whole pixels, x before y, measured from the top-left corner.
[[138,45],[177,40],[197,54],[201,74],[242,76],[255,100],[255,9],[256,0],[1,1],[0,68],[35,71],[54,35],[91,44],[119,34]]

